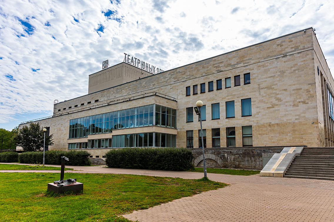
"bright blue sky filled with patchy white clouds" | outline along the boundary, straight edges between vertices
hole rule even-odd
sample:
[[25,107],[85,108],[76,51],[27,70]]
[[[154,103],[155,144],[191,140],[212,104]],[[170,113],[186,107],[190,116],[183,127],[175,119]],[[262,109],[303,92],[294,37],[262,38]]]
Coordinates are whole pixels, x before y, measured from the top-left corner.
[[52,115],[124,53],[169,70],[305,28],[334,68],[333,0],[0,0],[0,128]]

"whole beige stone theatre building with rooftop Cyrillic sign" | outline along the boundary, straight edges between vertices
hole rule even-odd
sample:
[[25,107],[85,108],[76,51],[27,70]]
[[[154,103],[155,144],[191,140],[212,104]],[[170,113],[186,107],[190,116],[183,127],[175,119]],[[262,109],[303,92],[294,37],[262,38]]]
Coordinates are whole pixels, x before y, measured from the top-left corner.
[[198,100],[206,148],[333,146],[334,82],[312,28],[168,71],[128,54],[104,66],[87,95],[32,121],[49,149],[199,148]]

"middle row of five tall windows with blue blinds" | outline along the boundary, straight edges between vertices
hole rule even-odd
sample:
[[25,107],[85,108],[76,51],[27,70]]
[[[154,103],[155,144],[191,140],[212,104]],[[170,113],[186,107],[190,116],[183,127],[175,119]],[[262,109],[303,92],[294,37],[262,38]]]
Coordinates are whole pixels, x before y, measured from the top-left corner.
[[[234,101],[225,102],[226,104],[226,118],[235,117]],[[187,122],[193,122],[193,107],[186,108]],[[241,99],[241,116],[252,115],[252,99]],[[201,107],[202,121],[206,120],[206,105]],[[220,119],[220,104],[211,104],[211,119]]]

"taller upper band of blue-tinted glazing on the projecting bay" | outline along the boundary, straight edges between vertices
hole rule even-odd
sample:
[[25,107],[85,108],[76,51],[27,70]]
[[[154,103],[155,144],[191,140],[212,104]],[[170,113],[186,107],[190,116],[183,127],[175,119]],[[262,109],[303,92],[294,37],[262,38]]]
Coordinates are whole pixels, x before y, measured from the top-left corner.
[[[154,112],[155,110],[155,112]],[[176,128],[176,109],[156,104],[71,119],[68,138],[111,133],[113,129],[142,126]]]

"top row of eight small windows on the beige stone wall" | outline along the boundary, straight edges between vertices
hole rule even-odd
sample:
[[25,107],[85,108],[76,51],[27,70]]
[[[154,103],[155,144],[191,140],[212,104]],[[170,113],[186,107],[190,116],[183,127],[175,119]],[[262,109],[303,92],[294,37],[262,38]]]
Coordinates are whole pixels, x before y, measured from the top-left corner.
[[[251,74],[243,74],[244,85],[251,83]],[[234,76],[234,86],[240,86],[240,75]],[[231,77],[225,78],[225,89],[231,87]],[[222,89],[222,80],[216,80],[216,90]],[[205,93],[205,83],[200,84],[199,88],[200,93]],[[208,92],[213,91],[213,81],[208,82]],[[198,94],[198,85],[192,86],[192,94]],[[186,86],[186,96],[190,96],[190,86]]]

